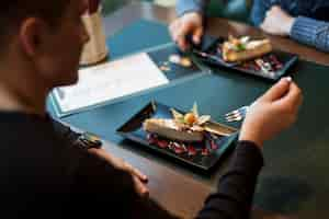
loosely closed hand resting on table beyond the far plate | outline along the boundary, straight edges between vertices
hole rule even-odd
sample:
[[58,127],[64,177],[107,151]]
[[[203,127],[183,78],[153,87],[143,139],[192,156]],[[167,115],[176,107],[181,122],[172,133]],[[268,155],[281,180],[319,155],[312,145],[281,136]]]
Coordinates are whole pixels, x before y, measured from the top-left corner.
[[283,11],[280,7],[272,7],[265,15],[261,30],[269,34],[288,36],[295,19]]

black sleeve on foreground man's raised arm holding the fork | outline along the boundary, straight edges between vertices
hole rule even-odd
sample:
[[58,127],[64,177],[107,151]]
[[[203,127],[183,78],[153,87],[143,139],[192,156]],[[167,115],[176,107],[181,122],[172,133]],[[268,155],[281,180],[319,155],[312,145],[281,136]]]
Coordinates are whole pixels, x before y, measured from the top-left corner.
[[252,142],[239,142],[229,170],[219,180],[217,192],[206,199],[196,218],[249,218],[257,177],[262,165],[260,149]]

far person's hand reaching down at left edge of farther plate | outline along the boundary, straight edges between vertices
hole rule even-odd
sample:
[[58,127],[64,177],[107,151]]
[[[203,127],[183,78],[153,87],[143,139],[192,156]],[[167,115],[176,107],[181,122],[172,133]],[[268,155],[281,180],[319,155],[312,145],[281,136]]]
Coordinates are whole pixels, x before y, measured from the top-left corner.
[[182,50],[186,50],[190,46],[186,42],[186,36],[189,34],[192,35],[192,41],[194,44],[201,43],[203,28],[203,18],[202,14],[197,12],[185,13],[181,18],[178,18],[175,21],[173,21],[169,26],[173,42],[175,42]]

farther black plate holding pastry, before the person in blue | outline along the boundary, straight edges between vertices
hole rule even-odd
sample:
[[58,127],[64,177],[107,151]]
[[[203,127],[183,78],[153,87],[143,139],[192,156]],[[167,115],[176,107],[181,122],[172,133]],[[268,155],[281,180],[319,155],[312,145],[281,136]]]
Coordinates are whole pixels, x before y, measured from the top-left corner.
[[[273,81],[279,80],[283,77],[286,71],[298,60],[298,56],[294,54],[288,54],[280,50],[273,50],[272,53],[264,55],[260,59],[268,62],[273,69],[272,72],[265,72],[262,70],[254,60],[238,62],[226,62],[222,58],[220,48],[223,43],[226,41],[224,37],[206,37],[208,42],[206,47],[194,47],[192,53],[195,54],[200,60],[209,64],[212,66],[217,66],[222,68],[234,69],[239,72],[253,74],[257,77],[270,79]],[[208,55],[208,56],[206,56]]]

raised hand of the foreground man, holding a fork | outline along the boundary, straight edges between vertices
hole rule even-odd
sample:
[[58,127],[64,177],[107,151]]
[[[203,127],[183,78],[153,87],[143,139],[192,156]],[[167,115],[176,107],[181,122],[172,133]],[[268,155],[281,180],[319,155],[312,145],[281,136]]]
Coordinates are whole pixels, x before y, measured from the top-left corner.
[[239,140],[253,141],[262,147],[297,118],[303,102],[300,89],[291,78],[283,78],[249,108]]

